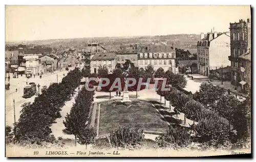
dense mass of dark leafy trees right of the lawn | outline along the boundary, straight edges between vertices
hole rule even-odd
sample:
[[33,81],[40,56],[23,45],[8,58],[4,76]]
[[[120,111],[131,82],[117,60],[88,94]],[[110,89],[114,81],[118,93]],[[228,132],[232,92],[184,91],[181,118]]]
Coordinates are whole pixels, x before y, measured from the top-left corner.
[[[200,90],[194,95],[185,94],[176,87],[174,85],[170,91],[157,92],[170,101],[177,114],[184,113],[184,123],[186,118],[194,121],[191,127],[199,142],[220,147],[245,141],[249,137],[250,99],[240,102],[211,83],[202,83]],[[195,121],[198,122],[197,125]]]

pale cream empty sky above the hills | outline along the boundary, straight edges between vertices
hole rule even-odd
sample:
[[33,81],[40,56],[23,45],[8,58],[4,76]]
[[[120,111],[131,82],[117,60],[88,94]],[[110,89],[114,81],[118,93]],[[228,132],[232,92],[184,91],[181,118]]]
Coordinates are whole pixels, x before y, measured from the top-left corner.
[[250,6],[6,6],[6,41],[229,31]]

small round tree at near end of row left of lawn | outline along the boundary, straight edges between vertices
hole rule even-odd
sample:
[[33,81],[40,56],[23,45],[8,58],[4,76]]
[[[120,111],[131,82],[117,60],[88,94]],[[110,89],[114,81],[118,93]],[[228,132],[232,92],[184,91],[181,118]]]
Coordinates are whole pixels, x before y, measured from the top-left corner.
[[94,128],[81,128],[78,131],[77,137],[78,137],[78,143],[81,145],[87,145],[92,144],[94,142],[94,138],[97,135]]

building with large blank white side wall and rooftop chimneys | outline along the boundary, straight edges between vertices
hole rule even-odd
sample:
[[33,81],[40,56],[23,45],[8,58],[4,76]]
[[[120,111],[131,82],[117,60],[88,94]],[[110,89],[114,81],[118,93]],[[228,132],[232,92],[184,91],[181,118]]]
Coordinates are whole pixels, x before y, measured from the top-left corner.
[[222,66],[230,66],[228,56],[230,54],[229,32],[209,32],[206,37],[201,33],[201,40],[197,43],[198,73],[209,76],[210,70]]

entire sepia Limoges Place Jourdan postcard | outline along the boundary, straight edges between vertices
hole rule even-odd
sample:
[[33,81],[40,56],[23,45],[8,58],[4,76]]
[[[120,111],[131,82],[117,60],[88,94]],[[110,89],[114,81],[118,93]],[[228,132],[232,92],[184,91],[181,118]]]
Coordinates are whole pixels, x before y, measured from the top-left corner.
[[251,156],[251,10],[6,5],[5,156]]

